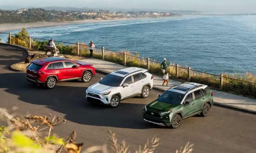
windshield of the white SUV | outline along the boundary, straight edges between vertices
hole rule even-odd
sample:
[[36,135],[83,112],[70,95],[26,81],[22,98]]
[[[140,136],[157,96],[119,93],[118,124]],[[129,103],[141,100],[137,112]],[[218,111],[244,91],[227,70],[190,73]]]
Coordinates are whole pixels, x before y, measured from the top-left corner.
[[113,74],[106,75],[99,83],[102,85],[108,85],[112,87],[118,87],[123,81],[124,77],[116,76]]

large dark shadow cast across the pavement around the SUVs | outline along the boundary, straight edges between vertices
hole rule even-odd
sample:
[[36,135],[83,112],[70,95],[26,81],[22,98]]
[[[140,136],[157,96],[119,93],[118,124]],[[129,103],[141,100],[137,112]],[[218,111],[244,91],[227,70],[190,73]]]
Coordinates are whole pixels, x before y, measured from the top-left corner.
[[[98,75],[98,77],[101,76]],[[37,107],[36,105],[45,105],[52,110],[61,112],[65,114],[67,120],[75,123],[132,129],[161,128],[146,123],[142,119],[142,109],[145,104],[138,103],[148,102],[148,98],[146,98],[147,100],[140,97],[129,98],[122,101],[119,107],[110,108],[85,102],[85,90],[93,84],[92,82],[62,82],[58,83],[54,89],[46,89],[44,86],[27,82],[25,73],[21,72],[0,74],[0,78],[0,88],[4,88],[5,92],[17,95],[22,102],[35,104],[35,107]],[[99,78],[93,78],[94,81],[92,81],[97,82]],[[74,84],[78,84],[78,86],[68,86]]]

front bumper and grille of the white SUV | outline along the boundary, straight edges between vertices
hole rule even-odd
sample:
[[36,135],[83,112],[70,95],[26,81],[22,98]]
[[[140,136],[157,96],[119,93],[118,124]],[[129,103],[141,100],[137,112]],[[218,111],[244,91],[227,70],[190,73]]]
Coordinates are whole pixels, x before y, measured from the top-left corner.
[[111,97],[112,97],[112,95],[102,96],[99,93],[93,93],[91,91],[88,91],[88,92],[86,92],[85,100],[88,102],[93,102],[93,103],[97,103],[97,104],[109,105]]

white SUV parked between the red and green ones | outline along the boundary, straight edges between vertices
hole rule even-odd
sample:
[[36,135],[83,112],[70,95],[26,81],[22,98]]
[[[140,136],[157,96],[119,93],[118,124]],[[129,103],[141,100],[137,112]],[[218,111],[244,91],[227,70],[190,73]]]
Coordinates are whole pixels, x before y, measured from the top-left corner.
[[143,68],[123,68],[109,73],[86,90],[86,101],[117,107],[120,100],[141,95],[147,98],[154,76]]

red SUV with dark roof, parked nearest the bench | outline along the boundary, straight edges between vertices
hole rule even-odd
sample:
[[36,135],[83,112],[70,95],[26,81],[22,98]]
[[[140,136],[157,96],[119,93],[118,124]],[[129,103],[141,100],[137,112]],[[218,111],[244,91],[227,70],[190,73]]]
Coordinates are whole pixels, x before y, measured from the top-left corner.
[[73,62],[61,57],[37,59],[26,67],[26,80],[35,84],[45,84],[53,89],[57,82],[81,79],[89,82],[95,76],[92,64]]

